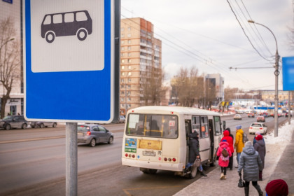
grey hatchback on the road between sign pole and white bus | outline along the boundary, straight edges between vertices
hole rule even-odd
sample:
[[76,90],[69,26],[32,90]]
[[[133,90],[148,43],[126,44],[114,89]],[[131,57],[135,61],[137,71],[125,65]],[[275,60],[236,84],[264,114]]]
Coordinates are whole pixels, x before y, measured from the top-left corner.
[[102,142],[113,144],[113,133],[111,133],[102,125],[78,125],[78,143],[85,143],[94,147],[96,144]]

